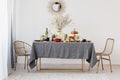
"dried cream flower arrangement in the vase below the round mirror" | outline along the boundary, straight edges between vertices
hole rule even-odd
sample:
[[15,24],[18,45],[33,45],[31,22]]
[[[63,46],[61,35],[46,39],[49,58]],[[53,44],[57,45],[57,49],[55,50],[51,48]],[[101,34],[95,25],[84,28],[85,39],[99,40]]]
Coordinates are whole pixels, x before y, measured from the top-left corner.
[[54,17],[52,24],[55,25],[57,29],[63,29],[71,21],[68,15],[59,15]]

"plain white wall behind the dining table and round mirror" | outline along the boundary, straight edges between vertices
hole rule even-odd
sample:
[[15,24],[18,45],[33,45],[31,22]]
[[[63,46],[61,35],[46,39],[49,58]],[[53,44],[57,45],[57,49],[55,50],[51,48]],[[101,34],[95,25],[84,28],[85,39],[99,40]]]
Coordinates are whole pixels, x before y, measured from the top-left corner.
[[[80,37],[94,42],[96,51],[104,48],[108,37],[115,39],[112,62],[120,64],[120,0],[63,0],[65,13],[72,23],[63,31],[73,28]],[[45,28],[55,31],[51,25],[53,15],[48,12],[48,0],[16,0],[16,39],[32,44],[44,34]]]

